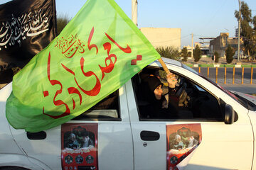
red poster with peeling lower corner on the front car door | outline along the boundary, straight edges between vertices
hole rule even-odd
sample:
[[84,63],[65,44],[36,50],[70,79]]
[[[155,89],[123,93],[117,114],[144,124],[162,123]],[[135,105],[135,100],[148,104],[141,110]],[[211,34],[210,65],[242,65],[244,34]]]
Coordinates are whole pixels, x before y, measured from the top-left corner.
[[201,143],[201,124],[166,125],[166,137],[167,170],[181,170]]

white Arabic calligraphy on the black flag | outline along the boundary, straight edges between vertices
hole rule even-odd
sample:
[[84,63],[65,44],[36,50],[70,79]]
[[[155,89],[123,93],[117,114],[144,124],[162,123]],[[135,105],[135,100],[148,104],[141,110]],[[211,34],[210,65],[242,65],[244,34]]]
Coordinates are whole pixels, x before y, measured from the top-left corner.
[[27,37],[40,35],[49,30],[49,20],[45,13],[42,15],[41,9],[28,14],[23,13],[15,17],[12,14],[11,21],[5,21],[0,24],[0,50],[1,46],[12,46],[18,43],[21,47],[21,40]]

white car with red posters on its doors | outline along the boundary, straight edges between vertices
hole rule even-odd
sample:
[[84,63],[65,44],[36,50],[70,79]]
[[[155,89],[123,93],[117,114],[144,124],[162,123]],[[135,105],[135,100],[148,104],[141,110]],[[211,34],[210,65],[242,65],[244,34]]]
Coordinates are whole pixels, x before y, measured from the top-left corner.
[[180,62],[164,62],[178,79],[174,118],[139,111],[141,76],[162,70],[158,61],[90,111],[36,133],[6,120],[8,84],[0,91],[0,169],[256,169],[255,96],[230,93]]

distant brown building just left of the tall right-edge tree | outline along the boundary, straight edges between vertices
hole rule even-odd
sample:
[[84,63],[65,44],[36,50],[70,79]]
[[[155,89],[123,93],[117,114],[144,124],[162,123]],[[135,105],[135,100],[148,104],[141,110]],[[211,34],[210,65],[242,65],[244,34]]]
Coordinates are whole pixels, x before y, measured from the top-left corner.
[[[209,54],[213,55],[214,52],[218,52],[220,57],[225,57],[225,50],[230,45],[234,50],[238,50],[238,38],[229,38],[229,33],[220,33],[220,36],[210,40]],[[240,41],[240,46],[242,41]]]

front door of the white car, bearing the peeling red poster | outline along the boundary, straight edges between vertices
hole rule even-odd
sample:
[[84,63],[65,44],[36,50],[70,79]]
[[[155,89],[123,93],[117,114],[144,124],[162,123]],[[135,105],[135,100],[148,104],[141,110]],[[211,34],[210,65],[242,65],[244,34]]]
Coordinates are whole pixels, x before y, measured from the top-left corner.
[[[253,134],[247,109],[193,72],[171,65],[168,68],[186,79],[187,86],[193,87],[193,93],[198,91],[193,96],[193,111],[183,107],[186,111],[179,112],[177,118],[145,119],[140,117],[138,102],[129,102],[135,169],[251,169]],[[126,85],[129,98],[136,96],[133,94],[136,88],[132,86],[132,82]],[[206,102],[208,100],[210,102]],[[233,106],[237,115],[235,123],[231,125],[224,122],[225,104]],[[170,132],[171,129],[176,133]],[[179,135],[178,130],[190,130],[196,134],[193,138],[198,140],[198,144],[188,152],[183,151],[184,147],[174,149],[183,154],[170,157],[171,140],[176,139],[172,134]]]

